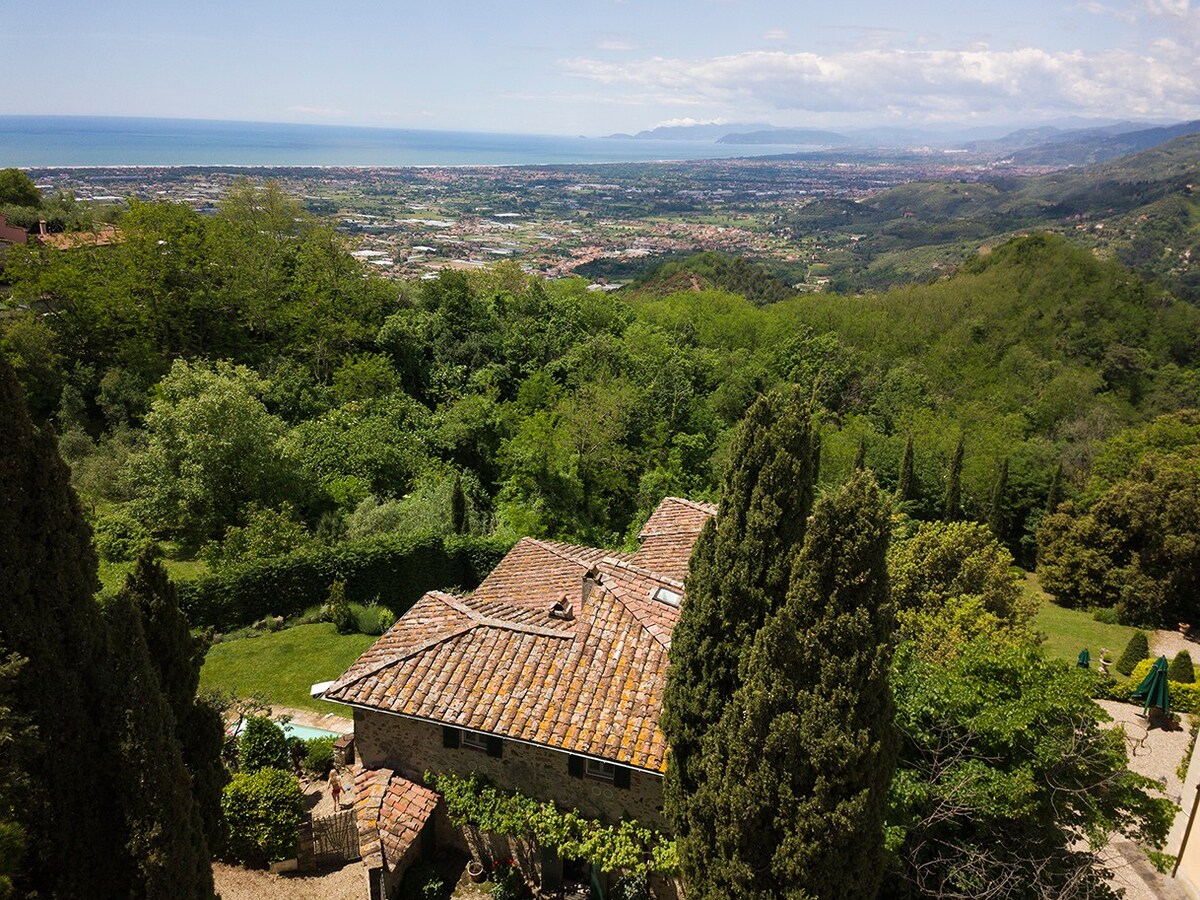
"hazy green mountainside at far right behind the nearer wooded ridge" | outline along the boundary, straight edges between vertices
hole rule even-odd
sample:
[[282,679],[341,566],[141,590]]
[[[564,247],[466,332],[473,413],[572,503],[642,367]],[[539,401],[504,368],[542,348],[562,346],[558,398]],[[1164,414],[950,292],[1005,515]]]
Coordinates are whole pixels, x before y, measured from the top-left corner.
[[[862,202],[821,200],[790,216],[793,235],[859,235],[834,287],[863,290],[928,280],[1028,230],[1052,230],[1116,256],[1200,299],[1200,134],[1087,168],[1026,179],[914,182]],[[919,251],[914,254],[914,251]]]

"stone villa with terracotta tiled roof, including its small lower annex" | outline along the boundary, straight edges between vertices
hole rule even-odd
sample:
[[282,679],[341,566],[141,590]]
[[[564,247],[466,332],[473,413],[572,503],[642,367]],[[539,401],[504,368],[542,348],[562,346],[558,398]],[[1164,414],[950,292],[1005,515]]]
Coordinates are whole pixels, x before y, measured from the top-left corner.
[[[632,554],[524,538],[470,595],[425,594],[324,691],[354,710],[372,893],[390,894],[433,842],[466,848],[426,772],[666,828],[667,654],[692,545],[715,514],[668,497]],[[562,860],[534,868],[552,888]]]

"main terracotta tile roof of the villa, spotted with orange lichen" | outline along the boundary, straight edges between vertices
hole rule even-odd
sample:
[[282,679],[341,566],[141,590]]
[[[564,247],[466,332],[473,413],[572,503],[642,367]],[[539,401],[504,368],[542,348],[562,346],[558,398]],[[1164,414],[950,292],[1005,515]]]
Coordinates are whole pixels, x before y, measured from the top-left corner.
[[[470,596],[422,596],[324,696],[661,772],[671,631],[714,511],[664,500],[643,535],[670,554],[526,538]],[[570,619],[551,614],[564,595]]]

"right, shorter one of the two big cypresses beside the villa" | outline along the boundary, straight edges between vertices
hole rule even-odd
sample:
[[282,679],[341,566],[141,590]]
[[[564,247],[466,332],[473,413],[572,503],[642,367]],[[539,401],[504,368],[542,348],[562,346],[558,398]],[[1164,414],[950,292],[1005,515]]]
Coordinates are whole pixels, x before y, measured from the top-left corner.
[[868,473],[817,503],[787,601],[703,744],[694,820],[712,816],[715,840],[683,854],[689,898],[877,894],[898,752],[889,528]]

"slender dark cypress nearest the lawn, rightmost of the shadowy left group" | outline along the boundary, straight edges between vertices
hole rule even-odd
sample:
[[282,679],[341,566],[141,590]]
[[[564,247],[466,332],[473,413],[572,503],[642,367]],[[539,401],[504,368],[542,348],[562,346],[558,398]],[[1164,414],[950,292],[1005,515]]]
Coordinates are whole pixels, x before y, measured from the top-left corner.
[[175,720],[175,736],[191,775],[192,797],[210,848],[221,846],[221,791],[228,780],[221,761],[221,713],[197,697],[208,641],[193,636],[179,608],[167,570],[149,553],[138,559],[121,593],[137,607],[150,661]]

